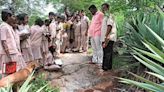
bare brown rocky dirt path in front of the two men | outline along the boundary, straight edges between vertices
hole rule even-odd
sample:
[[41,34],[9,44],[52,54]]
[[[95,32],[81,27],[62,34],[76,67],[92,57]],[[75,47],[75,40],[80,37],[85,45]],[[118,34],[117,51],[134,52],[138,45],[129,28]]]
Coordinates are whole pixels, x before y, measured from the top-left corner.
[[88,64],[91,56],[64,54],[61,59],[61,71],[45,72],[47,80],[60,87],[60,92],[110,92],[113,88],[115,73],[102,73],[98,65]]

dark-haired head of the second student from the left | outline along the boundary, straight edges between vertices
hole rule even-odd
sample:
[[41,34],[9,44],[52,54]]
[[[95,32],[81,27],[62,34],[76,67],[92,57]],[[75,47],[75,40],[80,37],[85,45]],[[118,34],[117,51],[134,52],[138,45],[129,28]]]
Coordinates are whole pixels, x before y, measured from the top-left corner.
[[28,24],[28,15],[26,13],[19,14],[17,16],[19,24],[27,25]]

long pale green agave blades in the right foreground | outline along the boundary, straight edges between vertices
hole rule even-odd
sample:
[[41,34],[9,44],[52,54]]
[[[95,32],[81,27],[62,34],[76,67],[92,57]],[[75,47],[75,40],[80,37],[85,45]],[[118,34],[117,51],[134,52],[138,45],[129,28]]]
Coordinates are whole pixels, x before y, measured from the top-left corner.
[[[161,16],[163,16],[163,13],[161,14],[162,14]],[[140,38],[141,44],[147,50],[143,50],[139,47],[131,47],[132,55],[140,63],[142,63],[143,65],[145,65],[147,68],[151,70],[151,72],[146,71],[147,74],[155,76],[156,78],[160,79],[161,82],[155,83],[133,73],[131,74],[135,76],[137,79],[139,79],[141,82],[130,80],[130,79],[125,79],[125,78],[119,78],[119,79],[120,79],[120,82],[122,83],[135,85],[135,86],[144,88],[150,92],[164,92],[164,85],[163,85],[164,84],[164,67],[162,66],[164,65],[164,49],[163,49],[164,39],[161,37],[162,36],[161,34],[158,35],[158,32],[153,31],[153,29],[147,26],[146,24],[142,26],[144,26],[147,29],[148,33],[153,36],[153,38],[157,41],[156,43],[158,44],[158,46],[156,44],[152,44],[151,40],[145,39],[141,35],[137,36],[138,38]]]

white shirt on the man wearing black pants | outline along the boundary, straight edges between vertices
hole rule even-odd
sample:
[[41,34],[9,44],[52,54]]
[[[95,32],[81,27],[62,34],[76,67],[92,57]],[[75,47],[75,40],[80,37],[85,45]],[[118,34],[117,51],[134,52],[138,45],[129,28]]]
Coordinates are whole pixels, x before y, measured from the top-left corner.
[[102,42],[105,41],[105,35],[107,32],[107,26],[108,25],[112,26],[111,32],[108,35],[110,41],[116,41],[117,40],[116,23],[115,23],[114,17],[110,14],[109,17],[104,16],[104,19],[102,22],[102,27],[101,27],[101,41]]

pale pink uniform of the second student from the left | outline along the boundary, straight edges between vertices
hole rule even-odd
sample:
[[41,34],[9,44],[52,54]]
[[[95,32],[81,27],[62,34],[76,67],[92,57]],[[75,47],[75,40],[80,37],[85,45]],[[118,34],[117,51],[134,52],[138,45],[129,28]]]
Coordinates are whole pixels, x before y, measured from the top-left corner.
[[[28,25],[19,25],[19,34],[20,34],[20,39],[22,39],[23,36],[27,35],[30,33],[30,27]],[[21,40],[20,42],[20,48],[22,51],[23,58],[26,63],[34,60],[32,50],[31,50],[31,40],[30,37]]]

